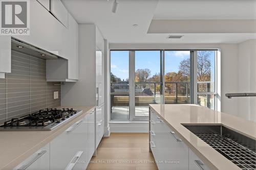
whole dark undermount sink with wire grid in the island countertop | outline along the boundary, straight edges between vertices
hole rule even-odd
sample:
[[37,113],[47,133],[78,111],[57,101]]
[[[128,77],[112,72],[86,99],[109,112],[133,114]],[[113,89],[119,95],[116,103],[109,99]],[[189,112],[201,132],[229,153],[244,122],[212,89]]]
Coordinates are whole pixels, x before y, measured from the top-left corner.
[[183,125],[241,169],[256,169],[256,141],[222,125]]

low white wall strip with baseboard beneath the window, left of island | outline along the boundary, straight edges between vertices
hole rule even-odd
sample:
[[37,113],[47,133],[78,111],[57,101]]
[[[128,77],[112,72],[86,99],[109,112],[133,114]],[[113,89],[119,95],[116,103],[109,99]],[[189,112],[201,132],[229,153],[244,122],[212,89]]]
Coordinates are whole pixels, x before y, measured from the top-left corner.
[[110,132],[148,133],[148,122],[110,122]]

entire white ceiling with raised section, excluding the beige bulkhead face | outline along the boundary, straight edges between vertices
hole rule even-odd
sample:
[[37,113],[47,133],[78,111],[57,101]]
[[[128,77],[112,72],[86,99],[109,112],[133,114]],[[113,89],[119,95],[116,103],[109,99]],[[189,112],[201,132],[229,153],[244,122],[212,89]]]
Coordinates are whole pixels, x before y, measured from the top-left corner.
[[[256,34],[147,34],[152,19],[256,19],[254,0],[62,0],[78,23],[95,23],[110,43],[238,43]],[[137,24],[138,27],[133,27]]]

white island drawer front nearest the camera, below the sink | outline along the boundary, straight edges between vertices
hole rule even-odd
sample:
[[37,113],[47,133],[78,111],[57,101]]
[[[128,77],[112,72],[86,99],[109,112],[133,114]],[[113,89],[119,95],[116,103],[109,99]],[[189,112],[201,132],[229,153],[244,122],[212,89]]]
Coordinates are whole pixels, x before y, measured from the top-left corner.
[[210,170],[204,162],[193,152],[189,149],[189,170]]

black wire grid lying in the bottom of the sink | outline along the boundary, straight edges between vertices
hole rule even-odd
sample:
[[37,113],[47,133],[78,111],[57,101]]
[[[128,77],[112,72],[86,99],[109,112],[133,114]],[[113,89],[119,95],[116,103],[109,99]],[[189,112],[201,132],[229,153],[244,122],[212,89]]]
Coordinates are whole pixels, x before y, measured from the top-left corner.
[[256,169],[256,153],[241,144],[219,134],[198,133],[196,135],[241,169]]

